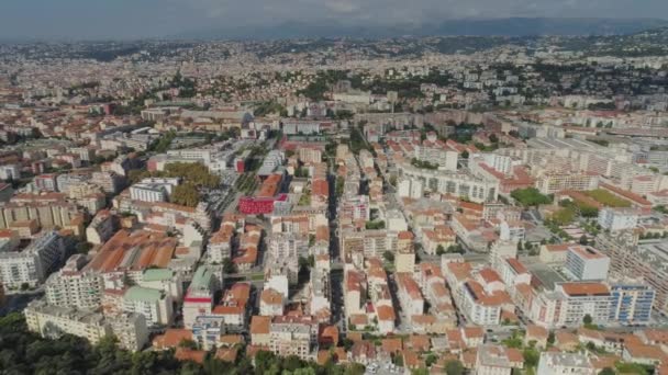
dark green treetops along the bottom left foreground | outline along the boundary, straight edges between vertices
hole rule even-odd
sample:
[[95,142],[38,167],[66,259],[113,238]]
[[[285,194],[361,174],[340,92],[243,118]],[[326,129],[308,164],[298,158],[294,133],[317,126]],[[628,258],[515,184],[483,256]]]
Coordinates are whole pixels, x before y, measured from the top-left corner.
[[203,363],[179,362],[174,350],[130,352],[120,349],[113,337],[91,345],[87,340],[65,334],[43,339],[30,332],[21,314],[0,318],[0,368],[2,374],[274,374],[274,375],[361,375],[364,366],[324,365],[297,356],[279,357],[260,351],[254,364],[240,346],[235,363],[215,359],[208,352]]

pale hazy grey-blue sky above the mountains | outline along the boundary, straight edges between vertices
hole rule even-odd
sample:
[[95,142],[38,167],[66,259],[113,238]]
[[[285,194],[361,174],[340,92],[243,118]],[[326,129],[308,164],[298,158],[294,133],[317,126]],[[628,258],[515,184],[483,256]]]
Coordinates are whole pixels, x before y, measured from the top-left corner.
[[286,22],[392,25],[508,16],[668,19],[668,0],[0,0],[0,39],[136,38]]

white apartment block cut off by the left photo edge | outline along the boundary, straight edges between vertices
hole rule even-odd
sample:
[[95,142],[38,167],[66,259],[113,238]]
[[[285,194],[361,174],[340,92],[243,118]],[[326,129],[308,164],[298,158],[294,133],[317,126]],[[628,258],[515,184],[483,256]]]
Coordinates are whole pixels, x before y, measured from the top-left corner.
[[35,287],[63,261],[60,236],[48,231],[21,252],[0,253],[0,282],[7,288]]

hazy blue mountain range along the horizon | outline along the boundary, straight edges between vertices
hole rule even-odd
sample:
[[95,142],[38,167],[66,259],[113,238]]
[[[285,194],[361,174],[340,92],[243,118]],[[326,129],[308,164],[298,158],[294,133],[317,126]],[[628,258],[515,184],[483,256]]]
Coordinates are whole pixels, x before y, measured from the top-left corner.
[[537,36],[621,35],[668,26],[660,19],[466,19],[422,25],[352,25],[336,22],[282,23],[269,26],[203,30],[179,35],[179,39],[281,39],[316,37],[397,36]]

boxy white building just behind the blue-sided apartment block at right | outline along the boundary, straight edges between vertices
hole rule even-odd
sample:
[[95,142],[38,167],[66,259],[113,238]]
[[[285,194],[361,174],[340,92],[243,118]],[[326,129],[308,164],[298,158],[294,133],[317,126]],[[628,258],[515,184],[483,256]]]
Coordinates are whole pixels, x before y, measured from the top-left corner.
[[574,280],[605,280],[610,258],[591,247],[572,246],[566,254],[565,271]]

